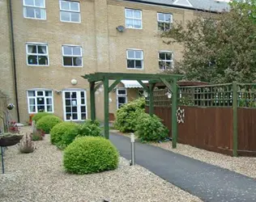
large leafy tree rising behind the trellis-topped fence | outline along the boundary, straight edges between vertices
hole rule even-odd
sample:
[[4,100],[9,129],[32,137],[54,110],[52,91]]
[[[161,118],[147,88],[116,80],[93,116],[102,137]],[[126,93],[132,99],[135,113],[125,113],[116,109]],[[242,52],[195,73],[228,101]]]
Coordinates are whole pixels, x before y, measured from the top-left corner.
[[202,82],[256,82],[256,0],[232,2],[219,15],[204,12],[184,27],[174,23],[164,43],[184,45],[174,73]]

